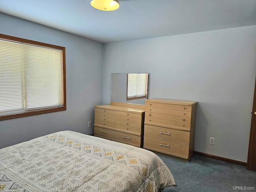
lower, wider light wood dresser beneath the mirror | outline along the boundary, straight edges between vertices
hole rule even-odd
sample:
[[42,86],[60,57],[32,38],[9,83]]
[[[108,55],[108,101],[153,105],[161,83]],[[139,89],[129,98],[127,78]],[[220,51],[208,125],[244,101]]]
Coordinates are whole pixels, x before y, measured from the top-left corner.
[[145,106],[110,102],[94,106],[94,136],[143,147]]

